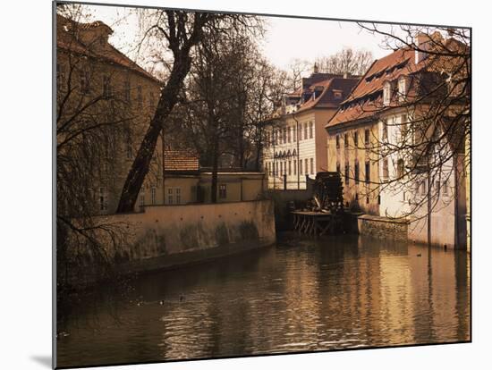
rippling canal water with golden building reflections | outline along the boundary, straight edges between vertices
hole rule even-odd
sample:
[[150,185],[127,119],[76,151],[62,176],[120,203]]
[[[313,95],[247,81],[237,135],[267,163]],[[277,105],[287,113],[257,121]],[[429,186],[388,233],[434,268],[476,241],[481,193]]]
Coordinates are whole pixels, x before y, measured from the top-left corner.
[[58,366],[470,341],[470,256],[357,236],[148,273],[58,322]]

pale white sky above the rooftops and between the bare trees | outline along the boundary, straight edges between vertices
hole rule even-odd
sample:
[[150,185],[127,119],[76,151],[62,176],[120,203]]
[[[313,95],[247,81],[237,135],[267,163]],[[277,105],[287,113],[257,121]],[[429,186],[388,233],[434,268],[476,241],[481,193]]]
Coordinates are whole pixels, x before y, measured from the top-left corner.
[[[111,44],[135,59],[134,45],[139,41],[138,17],[130,8],[89,6],[91,21],[104,21],[114,30]],[[314,63],[319,56],[334,55],[350,46],[372,52],[375,58],[388,54],[380,47],[381,37],[369,34],[350,21],[328,21],[300,18],[266,17],[267,32],[259,42],[267,59],[281,69],[288,69],[295,59]]]

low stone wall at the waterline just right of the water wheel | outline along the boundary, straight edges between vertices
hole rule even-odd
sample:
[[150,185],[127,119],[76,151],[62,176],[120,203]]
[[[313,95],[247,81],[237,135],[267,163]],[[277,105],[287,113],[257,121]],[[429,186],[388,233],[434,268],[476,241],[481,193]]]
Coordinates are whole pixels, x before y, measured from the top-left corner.
[[408,222],[369,214],[357,218],[359,233],[378,239],[407,240]]

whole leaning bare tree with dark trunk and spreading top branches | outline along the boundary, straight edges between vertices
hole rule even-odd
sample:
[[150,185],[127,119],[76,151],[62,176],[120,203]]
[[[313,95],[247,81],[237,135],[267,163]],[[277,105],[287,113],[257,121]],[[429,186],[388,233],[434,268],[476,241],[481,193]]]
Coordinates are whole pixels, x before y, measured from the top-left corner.
[[191,50],[212,32],[227,32],[230,29],[248,28],[252,17],[220,13],[190,13],[183,11],[157,10],[148,16],[151,24],[145,38],[160,40],[162,55],[171,51],[172,68],[157,104],[157,110],[141,142],[139,151],[123,186],[117,212],[133,209],[140,187],[148,173],[150,160],[157,139],[163,130],[182,90],[183,81],[191,69]]

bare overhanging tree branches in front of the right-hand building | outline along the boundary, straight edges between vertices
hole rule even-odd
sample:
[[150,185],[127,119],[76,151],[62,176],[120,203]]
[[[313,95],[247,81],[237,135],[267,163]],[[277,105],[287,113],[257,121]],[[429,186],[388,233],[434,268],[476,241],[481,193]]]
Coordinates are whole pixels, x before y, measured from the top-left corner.
[[[470,30],[377,23],[360,27],[383,36],[383,46],[394,52],[390,67],[375,67],[361,81],[381,79],[383,88],[349,97],[341,106],[383,122],[381,131],[370,131],[369,146],[362,140],[358,145],[382,165],[383,175],[371,191],[413,194],[398,217],[429,220],[451,201],[462,207],[470,166],[470,151],[465,150],[471,136]],[[464,211],[455,209],[455,214]]]

